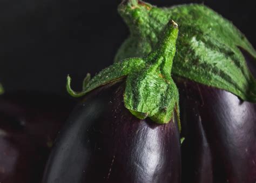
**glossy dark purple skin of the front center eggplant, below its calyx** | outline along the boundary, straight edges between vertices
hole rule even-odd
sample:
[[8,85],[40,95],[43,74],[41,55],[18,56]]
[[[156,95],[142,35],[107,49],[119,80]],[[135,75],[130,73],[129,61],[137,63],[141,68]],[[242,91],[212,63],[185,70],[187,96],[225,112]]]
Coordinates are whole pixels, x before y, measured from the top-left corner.
[[177,122],[139,120],[125,109],[124,85],[102,87],[71,114],[48,160],[44,183],[180,182]]

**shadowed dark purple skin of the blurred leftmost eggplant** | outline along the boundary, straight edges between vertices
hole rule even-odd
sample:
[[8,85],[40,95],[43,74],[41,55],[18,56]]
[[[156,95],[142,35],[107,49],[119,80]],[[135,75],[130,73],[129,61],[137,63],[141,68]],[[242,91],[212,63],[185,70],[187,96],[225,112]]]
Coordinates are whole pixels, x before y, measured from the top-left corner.
[[73,100],[46,93],[0,97],[0,182],[39,183]]

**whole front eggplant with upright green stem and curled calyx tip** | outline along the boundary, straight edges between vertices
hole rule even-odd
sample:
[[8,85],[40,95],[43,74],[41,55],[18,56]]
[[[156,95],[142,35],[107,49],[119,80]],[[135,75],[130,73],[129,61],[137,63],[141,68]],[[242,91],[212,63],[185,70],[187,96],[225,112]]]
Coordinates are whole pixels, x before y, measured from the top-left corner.
[[170,74],[177,35],[170,20],[147,57],[87,74],[81,92],[68,76],[72,96],[91,93],[62,129],[43,182],[180,182],[178,89]]

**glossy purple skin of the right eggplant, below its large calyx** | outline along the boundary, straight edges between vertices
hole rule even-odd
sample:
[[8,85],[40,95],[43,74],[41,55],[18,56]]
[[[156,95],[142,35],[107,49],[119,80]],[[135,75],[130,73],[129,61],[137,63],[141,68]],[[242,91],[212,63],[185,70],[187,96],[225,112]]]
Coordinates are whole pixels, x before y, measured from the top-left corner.
[[182,182],[256,182],[256,104],[234,94],[176,79],[185,137]]

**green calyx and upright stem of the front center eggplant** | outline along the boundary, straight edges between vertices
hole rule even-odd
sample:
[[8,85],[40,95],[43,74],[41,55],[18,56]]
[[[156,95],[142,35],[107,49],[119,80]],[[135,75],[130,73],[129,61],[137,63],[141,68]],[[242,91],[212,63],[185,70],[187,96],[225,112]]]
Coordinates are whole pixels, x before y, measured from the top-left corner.
[[150,117],[159,124],[168,123],[174,112],[179,117],[178,89],[171,78],[178,25],[170,21],[162,34],[156,48],[146,57],[116,62],[92,79],[87,74],[81,92],[71,89],[68,76],[68,92],[73,97],[80,97],[96,87],[126,79],[124,104],[134,116],[140,119]]

